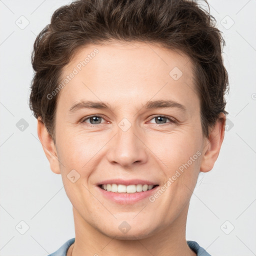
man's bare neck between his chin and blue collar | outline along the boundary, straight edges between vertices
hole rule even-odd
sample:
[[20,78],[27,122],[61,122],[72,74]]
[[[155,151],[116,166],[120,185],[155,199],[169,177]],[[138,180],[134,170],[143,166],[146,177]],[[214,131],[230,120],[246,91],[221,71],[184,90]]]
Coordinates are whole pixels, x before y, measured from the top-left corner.
[[169,226],[161,230],[155,230],[152,235],[146,238],[140,239],[134,236],[132,240],[120,240],[105,235],[87,223],[73,207],[75,242],[69,247],[66,255],[196,256],[196,253],[188,247],[185,239],[188,206],[189,203]]

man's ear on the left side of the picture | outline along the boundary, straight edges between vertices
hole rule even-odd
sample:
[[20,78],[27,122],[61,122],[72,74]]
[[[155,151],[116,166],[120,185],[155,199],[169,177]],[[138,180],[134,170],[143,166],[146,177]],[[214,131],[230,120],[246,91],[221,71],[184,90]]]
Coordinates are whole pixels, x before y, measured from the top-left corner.
[[44,123],[41,121],[40,118],[37,118],[37,134],[42,144],[43,151],[49,161],[50,169],[54,173],[60,174],[56,147],[54,145],[51,135],[48,133]]

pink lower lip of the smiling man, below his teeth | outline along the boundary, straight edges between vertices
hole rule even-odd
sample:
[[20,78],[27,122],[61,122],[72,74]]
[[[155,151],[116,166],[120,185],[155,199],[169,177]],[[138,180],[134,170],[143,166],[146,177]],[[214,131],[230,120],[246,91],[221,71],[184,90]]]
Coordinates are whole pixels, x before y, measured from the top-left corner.
[[155,192],[157,187],[158,186],[155,186],[150,190],[135,192],[135,193],[117,193],[117,192],[107,191],[97,186],[97,188],[103,194],[103,196],[120,204],[132,204],[142,199],[148,198],[152,193]]

